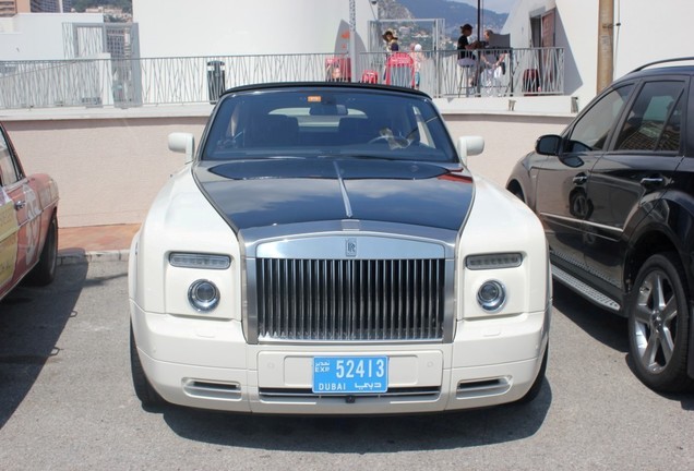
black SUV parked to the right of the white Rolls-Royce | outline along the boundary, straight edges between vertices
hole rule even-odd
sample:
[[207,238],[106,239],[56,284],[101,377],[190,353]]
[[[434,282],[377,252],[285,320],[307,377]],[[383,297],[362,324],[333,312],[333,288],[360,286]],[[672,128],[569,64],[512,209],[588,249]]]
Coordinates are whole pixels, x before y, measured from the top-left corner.
[[506,188],[535,210],[552,275],[629,318],[641,381],[694,385],[694,58],[612,83],[559,135],[538,138]]

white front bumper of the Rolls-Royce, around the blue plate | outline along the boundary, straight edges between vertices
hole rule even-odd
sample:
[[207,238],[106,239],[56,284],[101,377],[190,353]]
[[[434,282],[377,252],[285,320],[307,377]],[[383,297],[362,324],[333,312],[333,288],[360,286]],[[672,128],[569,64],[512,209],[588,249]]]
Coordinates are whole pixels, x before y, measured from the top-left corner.
[[[540,370],[550,309],[458,322],[452,343],[248,345],[238,322],[146,313],[131,300],[140,360],[166,401],[279,414],[415,413],[513,402]],[[312,394],[312,359],[325,355],[387,355],[387,392]]]

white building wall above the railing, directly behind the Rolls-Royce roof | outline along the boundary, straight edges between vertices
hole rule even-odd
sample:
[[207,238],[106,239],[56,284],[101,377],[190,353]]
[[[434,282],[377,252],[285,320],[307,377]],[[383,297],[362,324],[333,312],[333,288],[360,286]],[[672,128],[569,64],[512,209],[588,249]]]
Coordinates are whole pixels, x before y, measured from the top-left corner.
[[[376,8],[355,2],[359,51]],[[340,35],[349,31],[349,0],[133,0],[133,21],[143,58],[331,53],[348,43]]]

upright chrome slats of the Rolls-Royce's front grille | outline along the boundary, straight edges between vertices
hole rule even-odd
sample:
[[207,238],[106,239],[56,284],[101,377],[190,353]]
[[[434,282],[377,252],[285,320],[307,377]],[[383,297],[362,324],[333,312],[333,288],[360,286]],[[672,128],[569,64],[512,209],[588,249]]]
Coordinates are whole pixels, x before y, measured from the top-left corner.
[[259,258],[259,340],[442,339],[444,262]]

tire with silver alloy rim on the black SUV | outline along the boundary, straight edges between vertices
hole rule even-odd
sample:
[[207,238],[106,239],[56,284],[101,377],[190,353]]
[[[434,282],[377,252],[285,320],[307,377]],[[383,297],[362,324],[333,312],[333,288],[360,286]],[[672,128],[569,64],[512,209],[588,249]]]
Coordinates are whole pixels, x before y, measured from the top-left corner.
[[636,376],[660,392],[690,389],[690,306],[684,273],[672,253],[650,256],[629,297],[629,349]]

